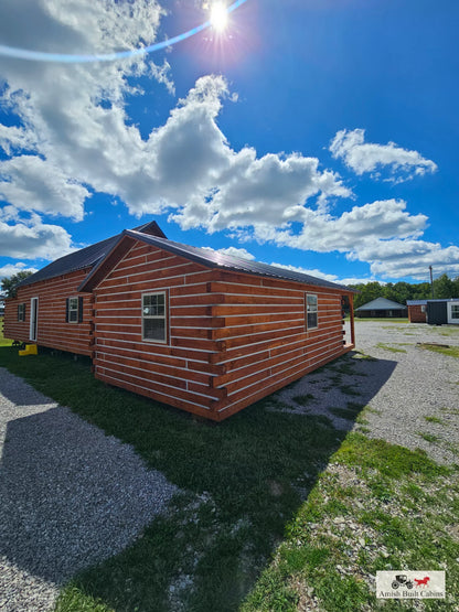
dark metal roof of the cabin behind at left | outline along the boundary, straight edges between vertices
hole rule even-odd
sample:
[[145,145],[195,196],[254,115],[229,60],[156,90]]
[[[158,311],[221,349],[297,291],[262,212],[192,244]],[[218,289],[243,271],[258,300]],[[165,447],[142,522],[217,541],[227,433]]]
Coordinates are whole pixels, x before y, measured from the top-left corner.
[[[156,222],[145,223],[143,225],[136,227],[136,229],[141,232],[154,232],[166,238],[166,235]],[[111,236],[110,238],[100,240],[100,243],[96,243],[95,245],[90,245],[89,247],[85,247],[79,250],[75,250],[74,253],[71,253],[68,255],[64,255],[64,257],[60,257],[34,275],[24,279],[18,284],[18,287],[25,287],[26,284],[32,284],[34,282],[47,280],[50,278],[58,277],[62,275],[67,275],[70,272],[75,272],[76,270],[82,270],[84,268],[94,268],[94,266],[96,266],[98,261],[100,261],[107,255],[107,253],[113,249],[120,236],[121,234],[117,234],[116,236]]]

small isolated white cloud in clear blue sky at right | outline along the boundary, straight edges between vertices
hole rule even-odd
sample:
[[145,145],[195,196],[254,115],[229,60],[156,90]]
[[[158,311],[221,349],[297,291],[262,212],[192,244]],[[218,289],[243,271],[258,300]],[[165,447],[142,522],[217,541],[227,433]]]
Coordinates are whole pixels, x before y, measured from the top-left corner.
[[362,129],[337,132],[330,143],[330,151],[333,158],[342,159],[359,175],[388,167],[391,179],[395,182],[437,170],[437,164],[433,161],[423,158],[417,151],[403,149],[395,142],[365,142],[365,130]]

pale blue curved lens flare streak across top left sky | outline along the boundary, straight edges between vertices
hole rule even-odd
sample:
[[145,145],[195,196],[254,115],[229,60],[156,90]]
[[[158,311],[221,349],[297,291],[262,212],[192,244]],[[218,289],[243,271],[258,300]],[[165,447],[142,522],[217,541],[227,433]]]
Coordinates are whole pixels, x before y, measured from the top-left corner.
[[[245,2],[247,2],[247,0],[236,0],[236,2],[233,2],[233,4],[231,4],[227,8],[222,6],[224,18],[221,13],[221,17],[217,21],[222,23],[224,20],[227,20],[227,15],[231,12],[235,11],[237,8],[241,7],[241,4],[244,4]],[[97,54],[97,55],[71,55],[66,53],[46,53],[43,51],[32,51],[29,49],[18,49],[14,46],[0,45],[0,55],[3,55],[6,57],[13,57],[14,60],[29,60],[32,62],[57,62],[63,64],[115,62],[116,60],[126,60],[126,58],[136,57],[139,55],[148,55],[149,53],[153,53],[154,51],[160,51],[161,49],[172,46],[177,43],[185,41],[186,39],[190,39],[191,36],[194,36],[195,34],[199,34],[203,30],[206,30],[207,28],[211,28],[211,26],[215,28],[216,30],[221,28],[214,24],[211,18],[204,23],[201,23],[201,25],[196,25],[195,28],[192,28],[191,30],[188,30],[182,34],[173,36],[172,39],[168,39],[167,41],[151,44],[149,46],[145,46],[141,49],[119,51],[117,53],[104,53],[104,54]]]

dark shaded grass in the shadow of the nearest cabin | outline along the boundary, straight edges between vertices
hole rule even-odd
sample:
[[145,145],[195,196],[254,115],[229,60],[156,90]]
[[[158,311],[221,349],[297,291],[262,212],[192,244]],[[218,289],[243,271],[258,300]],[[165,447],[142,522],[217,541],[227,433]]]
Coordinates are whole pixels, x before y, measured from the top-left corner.
[[345,437],[324,416],[269,410],[273,396],[213,425],[107,387],[65,355],[15,355],[0,348],[0,365],[132,444],[183,491],[132,546],[81,572],[61,611],[237,610]]

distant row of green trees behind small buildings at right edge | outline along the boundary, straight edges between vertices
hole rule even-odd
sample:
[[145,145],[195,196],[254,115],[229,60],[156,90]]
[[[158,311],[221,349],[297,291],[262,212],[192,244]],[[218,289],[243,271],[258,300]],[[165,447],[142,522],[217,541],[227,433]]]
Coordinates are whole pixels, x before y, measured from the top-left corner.
[[[366,284],[350,284],[349,287],[359,291],[354,297],[354,308],[366,304],[376,298],[386,298],[399,304],[406,304],[406,300],[431,299],[430,282],[414,284],[401,281],[381,284],[373,281]],[[434,280],[434,299],[442,298],[459,298],[459,276],[451,279],[448,275],[441,275]]]

